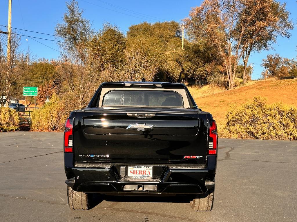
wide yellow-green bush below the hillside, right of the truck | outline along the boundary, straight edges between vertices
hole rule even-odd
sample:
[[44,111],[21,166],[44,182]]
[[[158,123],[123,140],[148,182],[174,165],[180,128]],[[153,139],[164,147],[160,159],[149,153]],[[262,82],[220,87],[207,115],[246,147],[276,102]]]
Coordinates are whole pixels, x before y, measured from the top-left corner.
[[297,108],[255,97],[238,107],[232,106],[227,122],[219,131],[220,137],[240,139],[297,140]]

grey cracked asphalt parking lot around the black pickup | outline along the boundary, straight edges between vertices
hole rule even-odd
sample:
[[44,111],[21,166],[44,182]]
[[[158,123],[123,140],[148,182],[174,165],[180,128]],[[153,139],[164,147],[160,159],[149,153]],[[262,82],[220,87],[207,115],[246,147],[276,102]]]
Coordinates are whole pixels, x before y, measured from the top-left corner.
[[0,221],[297,221],[297,142],[219,139],[214,208],[184,198],[105,197],[67,204],[63,133],[0,133]]

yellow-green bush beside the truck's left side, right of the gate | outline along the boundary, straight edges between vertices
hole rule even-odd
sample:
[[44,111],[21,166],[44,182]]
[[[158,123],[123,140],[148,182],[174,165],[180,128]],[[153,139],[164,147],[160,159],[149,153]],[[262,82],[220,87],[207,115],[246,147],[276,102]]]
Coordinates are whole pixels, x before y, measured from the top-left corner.
[[69,112],[64,102],[53,94],[50,103],[32,112],[31,130],[33,131],[64,131],[64,125]]

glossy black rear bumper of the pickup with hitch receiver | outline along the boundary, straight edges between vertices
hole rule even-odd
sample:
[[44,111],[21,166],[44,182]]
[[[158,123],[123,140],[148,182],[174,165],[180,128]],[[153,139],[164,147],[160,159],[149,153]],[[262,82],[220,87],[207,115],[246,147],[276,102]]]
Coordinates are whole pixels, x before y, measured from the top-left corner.
[[[203,194],[214,187],[217,156],[208,156],[206,166],[153,165],[150,180],[131,180],[120,175],[123,164],[74,165],[64,153],[68,186],[75,191],[103,194]],[[134,164],[135,165],[135,164]],[[147,165],[147,164],[146,164]],[[127,165],[126,165],[127,166]],[[155,173],[154,173],[155,172]]]

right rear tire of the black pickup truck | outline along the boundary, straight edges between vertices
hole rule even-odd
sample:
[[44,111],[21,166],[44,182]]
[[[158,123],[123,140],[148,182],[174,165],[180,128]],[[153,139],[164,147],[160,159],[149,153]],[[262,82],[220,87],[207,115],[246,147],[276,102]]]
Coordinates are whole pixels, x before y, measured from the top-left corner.
[[214,189],[208,190],[205,194],[198,194],[190,201],[191,208],[195,211],[211,211],[214,204]]

